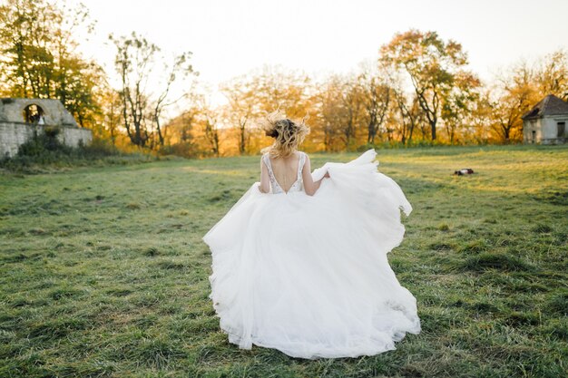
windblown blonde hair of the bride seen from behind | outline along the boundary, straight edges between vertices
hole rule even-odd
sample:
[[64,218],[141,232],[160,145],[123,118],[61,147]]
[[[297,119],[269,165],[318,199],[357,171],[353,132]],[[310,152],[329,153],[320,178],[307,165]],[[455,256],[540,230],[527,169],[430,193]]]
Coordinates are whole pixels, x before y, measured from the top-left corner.
[[284,158],[294,153],[295,150],[298,150],[299,144],[304,141],[306,135],[309,134],[306,120],[307,117],[304,117],[302,121],[295,122],[286,118],[286,115],[280,111],[269,113],[261,127],[266,135],[274,138],[274,142],[260,152],[269,152],[273,158]]

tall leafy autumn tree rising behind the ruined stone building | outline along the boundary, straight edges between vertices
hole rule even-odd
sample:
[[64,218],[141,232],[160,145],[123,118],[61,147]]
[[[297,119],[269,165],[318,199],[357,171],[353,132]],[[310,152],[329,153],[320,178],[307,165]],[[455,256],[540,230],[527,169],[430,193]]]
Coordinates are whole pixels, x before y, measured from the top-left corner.
[[83,5],[6,0],[0,5],[0,79],[5,95],[54,98],[75,120],[93,127],[103,70],[76,53],[80,27],[92,30]]

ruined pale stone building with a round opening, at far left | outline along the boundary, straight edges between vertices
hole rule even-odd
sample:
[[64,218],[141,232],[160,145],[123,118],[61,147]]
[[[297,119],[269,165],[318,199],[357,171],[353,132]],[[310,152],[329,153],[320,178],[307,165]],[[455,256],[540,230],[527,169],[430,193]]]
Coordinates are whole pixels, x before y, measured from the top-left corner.
[[14,156],[25,141],[53,127],[59,131],[57,139],[68,146],[93,140],[92,131],[79,127],[59,100],[0,99],[0,159]]

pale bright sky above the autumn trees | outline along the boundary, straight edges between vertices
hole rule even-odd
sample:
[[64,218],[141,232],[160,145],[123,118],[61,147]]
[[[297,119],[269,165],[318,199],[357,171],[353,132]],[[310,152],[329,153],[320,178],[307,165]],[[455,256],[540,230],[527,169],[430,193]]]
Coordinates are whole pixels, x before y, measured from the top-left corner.
[[[78,0],[77,0],[78,1]],[[411,28],[436,31],[491,80],[501,68],[568,50],[568,0],[83,0],[96,21],[81,42],[113,75],[108,34],[136,31],[166,53],[191,51],[200,81],[220,82],[264,64],[315,77],[349,73]]]

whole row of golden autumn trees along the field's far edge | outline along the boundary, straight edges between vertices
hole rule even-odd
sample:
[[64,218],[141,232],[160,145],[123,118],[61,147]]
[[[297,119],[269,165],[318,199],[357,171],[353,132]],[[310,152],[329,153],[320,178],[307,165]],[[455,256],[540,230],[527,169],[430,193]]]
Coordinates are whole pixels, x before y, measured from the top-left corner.
[[[0,3],[2,4],[2,3]],[[0,94],[56,98],[96,138],[122,149],[185,157],[254,154],[269,143],[260,118],[280,109],[308,117],[304,150],[513,143],[521,116],[547,94],[568,100],[568,54],[559,50],[482,82],[467,53],[434,31],[397,33],[373,62],[316,81],[264,66],[224,82],[212,103],[191,52],[168,56],[140,34],[109,35],[114,77],[76,52],[74,30],[92,31],[88,10],[46,0],[0,5]],[[174,93],[181,93],[174,97]]]

